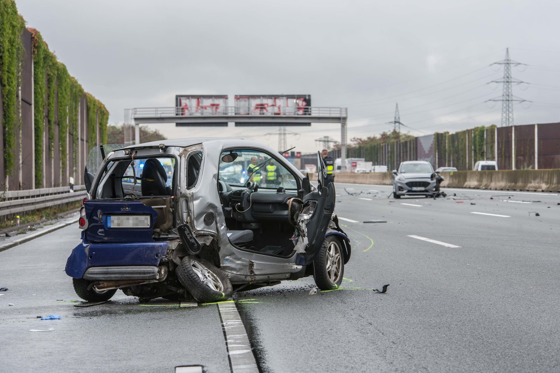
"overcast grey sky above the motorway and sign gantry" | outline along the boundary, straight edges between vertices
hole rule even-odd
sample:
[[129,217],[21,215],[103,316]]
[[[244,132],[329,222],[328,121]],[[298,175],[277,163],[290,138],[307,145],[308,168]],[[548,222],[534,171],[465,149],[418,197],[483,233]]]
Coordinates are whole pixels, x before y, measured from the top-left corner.
[[[110,124],[124,108],[174,106],[177,94],[306,93],[348,107],[348,137],[392,129],[395,103],[413,135],[500,124],[501,65],[530,85],[515,124],[560,121],[560,2],[16,0]],[[277,128],[175,128],[168,138],[228,136],[276,148]],[[288,145],[319,149],[340,125],[289,128]]]

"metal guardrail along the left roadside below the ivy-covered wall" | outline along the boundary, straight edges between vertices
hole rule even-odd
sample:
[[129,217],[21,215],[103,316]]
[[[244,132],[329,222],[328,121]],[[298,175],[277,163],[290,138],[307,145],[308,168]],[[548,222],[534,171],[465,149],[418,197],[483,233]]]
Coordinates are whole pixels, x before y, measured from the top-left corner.
[[73,192],[69,187],[9,191],[0,194],[0,197],[6,199],[0,202],[0,216],[80,201],[86,195],[83,185],[74,186]]

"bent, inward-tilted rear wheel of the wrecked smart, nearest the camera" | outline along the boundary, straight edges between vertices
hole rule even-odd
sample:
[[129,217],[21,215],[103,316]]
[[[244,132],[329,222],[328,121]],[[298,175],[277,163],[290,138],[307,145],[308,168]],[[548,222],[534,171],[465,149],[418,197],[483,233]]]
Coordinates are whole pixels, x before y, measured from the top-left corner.
[[175,272],[181,285],[199,302],[226,300],[234,292],[226,275],[204,259],[188,255]]

